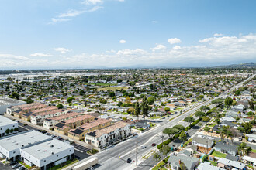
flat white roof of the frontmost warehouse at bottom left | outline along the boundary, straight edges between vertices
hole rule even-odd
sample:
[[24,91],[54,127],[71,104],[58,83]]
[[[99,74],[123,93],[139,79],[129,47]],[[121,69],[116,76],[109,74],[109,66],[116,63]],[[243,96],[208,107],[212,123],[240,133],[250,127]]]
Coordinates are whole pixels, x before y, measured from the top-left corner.
[[39,160],[48,158],[50,155],[56,155],[57,153],[66,151],[68,149],[71,150],[70,155],[74,153],[74,146],[54,138],[52,138],[50,141],[45,141],[37,145],[21,148],[22,151],[26,151],[26,153],[38,158]]

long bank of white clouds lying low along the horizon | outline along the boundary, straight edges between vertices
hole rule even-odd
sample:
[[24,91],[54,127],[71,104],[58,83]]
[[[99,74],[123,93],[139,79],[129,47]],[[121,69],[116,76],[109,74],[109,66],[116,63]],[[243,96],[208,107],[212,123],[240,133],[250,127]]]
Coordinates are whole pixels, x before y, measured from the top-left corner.
[[[157,45],[157,49],[164,49]],[[154,48],[156,48],[155,46]],[[74,56],[44,57],[0,54],[0,68],[94,68],[98,66],[207,66],[220,63],[255,62],[256,34],[209,37],[191,46],[173,46],[166,50],[122,49]],[[54,49],[59,53],[71,51]],[[35,55],[39,56],[39,55]],[[60,58],[61,57],[61,58]],[[209,66],[208,65],[208,66]]]

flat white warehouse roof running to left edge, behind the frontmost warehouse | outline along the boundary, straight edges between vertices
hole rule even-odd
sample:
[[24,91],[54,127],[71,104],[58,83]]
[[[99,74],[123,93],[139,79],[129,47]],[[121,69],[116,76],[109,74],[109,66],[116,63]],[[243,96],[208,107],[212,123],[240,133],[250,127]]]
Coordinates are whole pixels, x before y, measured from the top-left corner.
[[24,131],[0,138],[0,146],[7,151],[13,151],[50,138],[50,136],[42,134],[39,131]]

